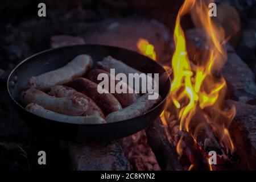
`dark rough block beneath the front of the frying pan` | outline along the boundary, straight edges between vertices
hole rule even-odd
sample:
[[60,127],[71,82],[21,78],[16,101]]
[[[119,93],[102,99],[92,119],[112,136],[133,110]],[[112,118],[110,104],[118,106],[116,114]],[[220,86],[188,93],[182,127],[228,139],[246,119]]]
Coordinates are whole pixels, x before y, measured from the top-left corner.
[[71,144],[69,154],[75,171],[130,170],[129,162],[117,141],[102,144]]

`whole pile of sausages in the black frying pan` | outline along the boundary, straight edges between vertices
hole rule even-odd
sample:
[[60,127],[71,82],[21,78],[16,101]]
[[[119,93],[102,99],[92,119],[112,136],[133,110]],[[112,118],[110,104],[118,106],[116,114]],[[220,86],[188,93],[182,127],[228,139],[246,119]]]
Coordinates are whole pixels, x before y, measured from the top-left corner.
[[110,78],[110,68],[125,74],[140,72],[111,56],[98,62],[101,69],[91,70],[92,65],[92,57],[78,55],[62,68],[31,77],[28,88],[21,93],[21,101],[28,111],[43,118],[97,124],[137,117],[161,100],[160,96],[157,100],[148,100],[148,93],[143,96],[134,92],[111,94],[108,90],[98,93],[100,73]]

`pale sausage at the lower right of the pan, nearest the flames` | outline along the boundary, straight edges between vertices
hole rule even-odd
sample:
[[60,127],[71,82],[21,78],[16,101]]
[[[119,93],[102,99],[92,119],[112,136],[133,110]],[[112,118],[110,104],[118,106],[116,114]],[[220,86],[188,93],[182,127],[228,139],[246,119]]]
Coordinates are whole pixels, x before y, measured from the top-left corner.
[[138,98],[138,100],[134,102],[134,104],[125,107],[124,109],[110,113],[106,116],[106,122],[111,123],[138,117],[139,115],[146,113],[146,111],[150,110],[152,106],[162,100],[160,95],[158,95],[159,97],[156,100],[148,100],[149,94],[150,93],[144,94],[143,96]]

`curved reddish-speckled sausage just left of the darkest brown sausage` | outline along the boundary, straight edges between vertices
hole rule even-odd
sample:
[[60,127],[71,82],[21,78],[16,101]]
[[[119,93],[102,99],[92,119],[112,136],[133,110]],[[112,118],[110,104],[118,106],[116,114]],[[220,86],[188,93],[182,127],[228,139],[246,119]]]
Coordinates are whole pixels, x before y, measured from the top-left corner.
[[77,92],[75,89],[72,89],[68,86],[63,86],[63,85],[53,86],[51,88],[51,91],[48,94],[50,96],[55,96],[55,97],[65,97],[65,98],[71,98],[71,99],[82,98],[84,100],[87,100],[88,109],[82,115],[98,115],[102,118],[105,118],[102,110],[100,109],[100,107],[97,106],[97,104],[95,104],[95,102],[93,102],[93,100],[85,96],[85,94]]

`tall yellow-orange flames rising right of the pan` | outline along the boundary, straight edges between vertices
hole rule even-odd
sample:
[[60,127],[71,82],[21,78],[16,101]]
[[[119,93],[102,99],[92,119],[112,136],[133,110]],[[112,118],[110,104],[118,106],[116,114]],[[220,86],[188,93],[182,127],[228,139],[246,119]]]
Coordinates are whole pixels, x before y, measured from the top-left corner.
[[[210,38],[207,42],[210,47],[208,57],[205,60],[197,60],[196,65],[193,65],[193,67],[189,60],[184,31],[180,26],[181,16],[188,13],[188,11],[191,11],[199,18],[201,27]],[[208,6],[204,1],[185,0],[176,18],[174,29],[175,52],[171,62],[174,78],[171,84],[170,97],[172,104],[175,106],[174,109],[178,113],[180,130],[189,132],[191,119],[197,114],[199,108],[203,111],[210,108],[212,113],[216,115],[230,116],[221,109],[221,102],[223,102],[224,97],[220,97],[220,94],[225,92],[226,82],[223,77],[214,75],[214,73],[220,71],[226,60],[226,52],[222,46],[224,38],[222,28],[216,27],[208,16]],[[204,114],[208,113],[204,112]],[[212,124],[214,130],[218,130],[216,133],[220,134],[220,136],[217,137],[225,138],[222,139],[225,146],[233,150],[234,146],[227,133],[228,130],[223,130],[223,126],[227,126],[229,123],[216,125],[214,122],[220,122],[217,121],[220,118],[216,117],[216,115],[208,114],[207,118],[212,120],[208,121],[208,123]],[[195,136],[193,137],[196,138]]]

